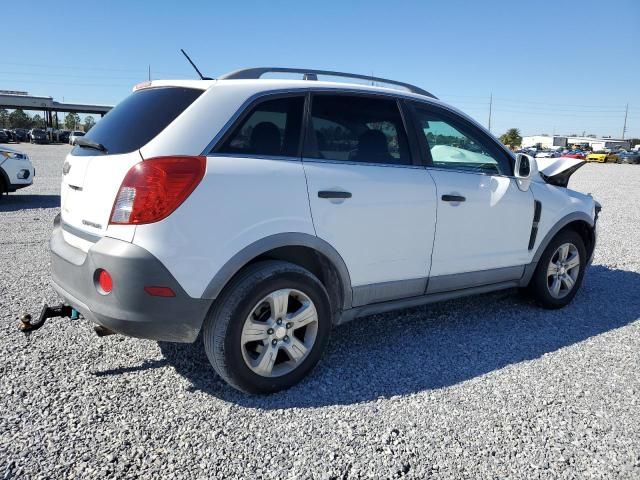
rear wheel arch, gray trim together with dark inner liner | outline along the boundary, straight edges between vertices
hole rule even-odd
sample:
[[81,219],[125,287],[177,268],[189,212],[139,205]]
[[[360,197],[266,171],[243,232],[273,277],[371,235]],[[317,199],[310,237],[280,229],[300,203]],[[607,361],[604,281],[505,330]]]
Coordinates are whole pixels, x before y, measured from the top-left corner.
[[271,235],[240,250],[211,279],[202,298],[217,298],[240,270],[267,259],[288,261],[316,275],[329,292],[334,317],[351,308],[351,278],[340,254],[326,241],[297,232]]

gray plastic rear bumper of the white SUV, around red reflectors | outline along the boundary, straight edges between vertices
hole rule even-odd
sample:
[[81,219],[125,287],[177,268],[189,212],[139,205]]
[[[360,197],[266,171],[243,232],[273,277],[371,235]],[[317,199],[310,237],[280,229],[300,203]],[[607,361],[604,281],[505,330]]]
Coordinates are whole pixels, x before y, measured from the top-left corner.
[[[85,318],[124,335],[193,342],[212,300],[192,298],[162,263],[145,249],[103,237],[87,253],[65,242],[59,218],[49,242],[52,285]],[[113,291],[102,295],[95,271],[107,270]],[[175,297],[155,297],[145,286],[170,287]]]

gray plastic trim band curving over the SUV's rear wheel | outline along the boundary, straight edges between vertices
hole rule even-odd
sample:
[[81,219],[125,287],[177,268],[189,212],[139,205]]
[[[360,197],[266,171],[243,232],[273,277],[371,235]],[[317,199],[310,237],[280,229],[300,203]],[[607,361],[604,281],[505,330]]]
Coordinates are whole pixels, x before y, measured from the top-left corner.
[[205,288],[202,298],[216,298],[229,280],[247,263],[269,250],[281,247],[308,247],[325,256],[333,264],[340,277],[344,298],[343,309],[351,308],[351,278],[349,277],[347,265],[340,254],[324,240],[299,232],[271,235],[240,250],[216,273],[207,288]]

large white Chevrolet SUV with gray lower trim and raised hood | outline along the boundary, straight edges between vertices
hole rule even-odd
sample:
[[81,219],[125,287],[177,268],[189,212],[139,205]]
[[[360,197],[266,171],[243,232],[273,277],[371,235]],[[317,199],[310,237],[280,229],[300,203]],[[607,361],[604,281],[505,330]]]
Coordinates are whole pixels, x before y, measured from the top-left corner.
[[201,333],[222,378],[263,393],[356,317],[512,287],[572,300],[599,211],[566,188],[583,161],[514,156],[411,85],[317,74],[370,79],[145,82],[78,138],[51,238],[67,307],[102,333]]

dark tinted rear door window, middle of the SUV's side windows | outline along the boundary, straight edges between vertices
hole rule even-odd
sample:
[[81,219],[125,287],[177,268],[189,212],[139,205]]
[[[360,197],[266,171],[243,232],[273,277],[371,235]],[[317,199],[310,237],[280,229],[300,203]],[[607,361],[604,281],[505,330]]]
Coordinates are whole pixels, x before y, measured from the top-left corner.
[[407,135],[393,99],[314,95],[305,156],[410,165]]

